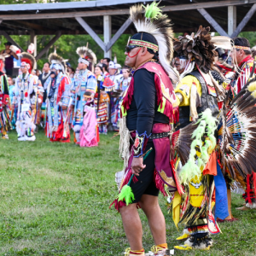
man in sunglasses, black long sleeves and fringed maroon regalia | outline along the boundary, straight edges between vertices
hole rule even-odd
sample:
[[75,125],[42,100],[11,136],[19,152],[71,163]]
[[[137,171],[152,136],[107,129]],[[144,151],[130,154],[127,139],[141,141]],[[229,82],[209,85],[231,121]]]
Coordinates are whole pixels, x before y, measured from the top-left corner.
[[[120,198],[121,192],[113,204],[121,213],[131,246],[126,249],[125,255],[145,255],[138,206],[146,213],[154,236],[155,245],[151,251],[154,255],[166,255],[166,222],[160,210],[158,194],[159,190],[166,194],[165,183],[170,189],[177,190],[177,180],[170,163],[168,135],[170,123],[178,118],[171,82],[172,79],[176,83],[178,79],[170,66],[172,25],[171,20],[161,14],[157,3],[147,6],[145,13],[143,5],[133,6],[130,13],[137,34],[132,36],[125,48],[125,65],[133,67],[135,73],[121,108],[120,154],[125,158],[125,171],[121,172],[124,176],[121,177],[120,189],[127,188],[128,181],[135,174],[129,183],[134,197],[124,200]],[[134,143],[130,144],[130,138]],[[149,148],[153,149],[143,162],[143,154]]]

